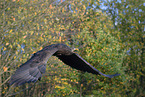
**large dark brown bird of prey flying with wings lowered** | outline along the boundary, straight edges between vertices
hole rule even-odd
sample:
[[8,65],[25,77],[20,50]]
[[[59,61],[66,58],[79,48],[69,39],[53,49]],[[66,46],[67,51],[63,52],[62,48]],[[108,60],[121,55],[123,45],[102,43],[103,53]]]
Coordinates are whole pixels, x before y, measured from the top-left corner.
[[45,73],[47,61],[51,56],[58,57],[65,64],[80,71],[96,75],[100,74],[108,78],[120,75],[118,73],[114,75],[103,74],[85,61],[81,56],[74,53],[67,45],[52,44],[34,53],[27,62],[22,64],[11,76],[9,84],[19,86],[39,80],[42,77],[42,74]]

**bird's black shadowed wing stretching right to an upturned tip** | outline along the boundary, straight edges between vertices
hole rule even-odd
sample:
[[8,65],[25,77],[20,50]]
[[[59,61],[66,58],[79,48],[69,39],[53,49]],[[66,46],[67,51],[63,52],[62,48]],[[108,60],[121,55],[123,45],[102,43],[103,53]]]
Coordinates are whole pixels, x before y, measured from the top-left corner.
[[101,74],[101,75],[103,75],[105,77],[109,77],[109,78],[120,75],[117,73],[114,75],[103,74],[76,53],[73,53],[71,55],[61,55],[61,56],[57,56],[57,57],[60,60],[62,60],[65,64],[67,64],[77,70],[81,70],[81,71],[89,72],[89,73],[93,73],[93,74]]

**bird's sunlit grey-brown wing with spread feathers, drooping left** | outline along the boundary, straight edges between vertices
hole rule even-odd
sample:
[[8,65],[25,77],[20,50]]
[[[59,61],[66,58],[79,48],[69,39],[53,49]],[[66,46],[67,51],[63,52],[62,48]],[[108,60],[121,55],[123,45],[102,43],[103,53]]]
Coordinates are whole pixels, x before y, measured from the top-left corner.
[[36,82],[45,73],[46,63],[57,49],[41,50],[35,53],[26,63],[18,68],[9,80],[10,85],[22,85],[24,83]]

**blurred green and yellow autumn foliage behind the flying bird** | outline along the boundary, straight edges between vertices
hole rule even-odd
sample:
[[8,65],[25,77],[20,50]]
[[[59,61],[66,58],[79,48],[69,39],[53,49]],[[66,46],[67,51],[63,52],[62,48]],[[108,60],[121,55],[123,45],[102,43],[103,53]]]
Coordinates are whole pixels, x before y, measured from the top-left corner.
[[[145,96],[144,0],[1,0],[0,96]],[[41,81],[20,87],[10,76],[46,45],[77,47],[112,79],[48,61]]]

